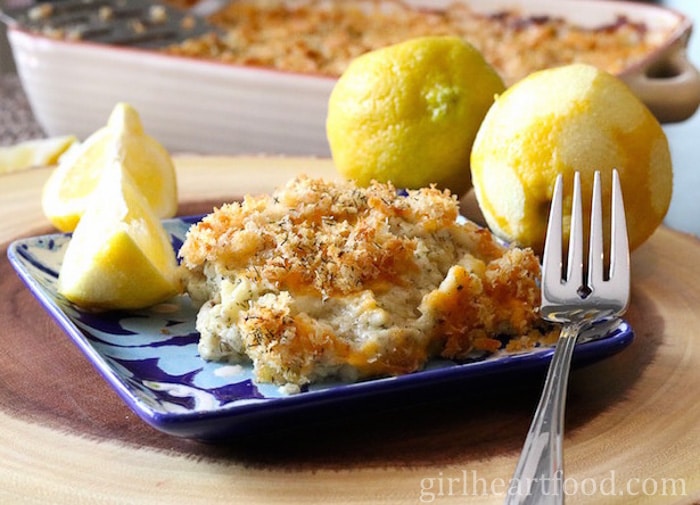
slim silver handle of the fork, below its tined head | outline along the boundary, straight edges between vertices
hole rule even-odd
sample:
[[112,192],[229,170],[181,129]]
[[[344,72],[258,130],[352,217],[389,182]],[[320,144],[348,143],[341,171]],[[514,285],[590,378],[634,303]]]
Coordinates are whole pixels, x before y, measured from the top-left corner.
[[554,350],[506,505],[564,503],[562,439],[571,357],[583,323],[566,324]]

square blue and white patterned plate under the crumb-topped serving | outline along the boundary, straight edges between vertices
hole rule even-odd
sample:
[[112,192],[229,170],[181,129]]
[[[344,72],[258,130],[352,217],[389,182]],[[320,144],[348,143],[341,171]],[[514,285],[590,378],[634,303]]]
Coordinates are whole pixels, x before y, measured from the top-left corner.
[[[163,222],[176,251],[189,227],[200,218]],[[216,439],[279,424],[283,419],[293,426],[303,416],[312,412],[323,416],[340,404],[383,403],[402,395],[416,402],[466,384],[489,386],[500,379],[542,373],[554,352],[552,347],[542,347],[474,357],[469,362],[433,360],[424,370],[408,375],[322,383],[290,395],[274,385],[255,383],[250,365],[204,361],[197,352],[197,308],[187,296],[128,312],[90,312],[65,300],[56,292],[56,283],[69,240],[69,234],[17,240],[8,248],[8,258],[34,296],[126,404],[145,422],[172,435]],[[611,356],[633,338],[625,321],[597,325],[580,337],[574,365]]]

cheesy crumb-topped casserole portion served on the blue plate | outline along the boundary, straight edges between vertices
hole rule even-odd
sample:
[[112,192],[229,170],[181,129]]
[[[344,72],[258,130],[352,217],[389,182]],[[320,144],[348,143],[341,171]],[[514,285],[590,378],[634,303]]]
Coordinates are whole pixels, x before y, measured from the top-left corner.
[[540,266],[458,219],[457,199],[299,177],[223,205],[180,250],[204,359],[259,382],[405,374],[546,338]]

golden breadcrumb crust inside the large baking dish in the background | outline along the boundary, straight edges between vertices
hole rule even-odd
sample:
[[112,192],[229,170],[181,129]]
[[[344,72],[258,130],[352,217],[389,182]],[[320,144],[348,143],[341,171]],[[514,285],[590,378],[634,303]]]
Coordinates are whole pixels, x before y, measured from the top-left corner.
[[400,0],[236,0],[209,20],[223,33],[190,38],[165,51],[338,77],[365,52],[414,37],[455,35],[476,47],[508,85],[574,62],[616,74],[647,58],[669,35],[624,15],[591,28],[517,8],[483,14],[460,1],[445,9],[419,9]]

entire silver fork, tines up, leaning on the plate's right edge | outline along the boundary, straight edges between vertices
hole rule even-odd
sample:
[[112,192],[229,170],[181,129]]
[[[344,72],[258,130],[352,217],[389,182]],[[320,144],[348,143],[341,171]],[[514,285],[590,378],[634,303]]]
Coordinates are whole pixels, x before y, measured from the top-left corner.
[[506,504],[564,503],[562,439],[564,407],[571,356],[581,330],[627,309],[629,301],[629,245],[617,170],[613,171],[610,270],[604,275],[600,173],[593,181],[588,253],[584,283],[581,177],[574,177],[571,231],[566,277],[562,278],[562,177],[554,187],[542,261],[542,317],[562,323],[561,334],[547,372],[544,389],[511,480]]

